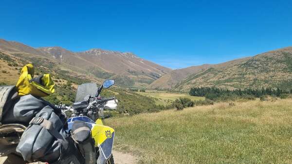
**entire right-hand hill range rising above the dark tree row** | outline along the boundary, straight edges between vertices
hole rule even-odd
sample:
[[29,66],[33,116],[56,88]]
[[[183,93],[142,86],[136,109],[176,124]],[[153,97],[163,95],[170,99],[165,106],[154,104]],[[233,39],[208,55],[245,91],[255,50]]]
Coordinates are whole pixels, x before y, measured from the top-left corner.
[[[181,72],[178,81],[173,72]],[[218,65],[209,65],[192,73],[185,69],[173,70],[153,82],[149,89],[169,89],[187,92],[193,86],[220,88],[261,88],[292,86],[292,47],[265,52],[254,57],[238,59]],[[169,78],[170,77],[170,78]],[[171,83],[171,85],[167,85]]]

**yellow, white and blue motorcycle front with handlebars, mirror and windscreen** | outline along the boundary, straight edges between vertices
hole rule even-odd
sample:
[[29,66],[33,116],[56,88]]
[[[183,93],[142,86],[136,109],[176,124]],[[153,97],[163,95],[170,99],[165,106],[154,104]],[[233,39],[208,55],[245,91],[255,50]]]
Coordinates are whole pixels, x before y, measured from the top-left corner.
[[103,117],[103,109],[116,109],[118,103],[114,97],[99,97],[103,88],[109,88],[113,84],[113,80],[107,80],[99,88],[92,82],[78,85],[76,102],[72,107],[65,107],[67,111],[73,112],[72,117],[67,121],[69,131],[75,120],[84,121],[91,128],[92,138],[95,141],[97,164],[114,163],[112,156],[114,130],[103,125],[101,117]]

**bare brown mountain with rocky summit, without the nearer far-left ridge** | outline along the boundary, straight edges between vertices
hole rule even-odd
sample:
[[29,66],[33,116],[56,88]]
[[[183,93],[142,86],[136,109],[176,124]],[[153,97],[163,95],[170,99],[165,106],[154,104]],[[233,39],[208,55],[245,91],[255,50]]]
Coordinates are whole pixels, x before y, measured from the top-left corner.
[[51,54],[60,63],[77,66],[96,77],[115,79],[122,86],[145,87],[171,70],[128,52],[102,49],[72,52],[60,47],[39,50]]

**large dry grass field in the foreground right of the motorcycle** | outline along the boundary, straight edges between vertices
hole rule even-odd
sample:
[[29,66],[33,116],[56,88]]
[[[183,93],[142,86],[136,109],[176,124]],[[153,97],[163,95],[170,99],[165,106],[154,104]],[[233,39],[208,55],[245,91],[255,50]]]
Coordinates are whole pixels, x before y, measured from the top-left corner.
[[115,148],[140,163],[292,163],[292,99],[113,117]]

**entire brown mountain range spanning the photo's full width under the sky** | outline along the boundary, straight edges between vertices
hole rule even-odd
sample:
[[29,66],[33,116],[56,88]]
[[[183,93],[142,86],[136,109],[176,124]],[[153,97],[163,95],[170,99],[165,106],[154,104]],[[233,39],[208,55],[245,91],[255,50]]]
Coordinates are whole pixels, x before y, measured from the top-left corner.
[[[114,79],[122,87],[188,92],[191,87],[226,89],[292,86],[292,47],[270,50],[252,57],[215,65],[204,64],[171,70],[131,52],[89,49],[74,52],[62,47],[32,48],[0,39],[0,50],[36,66],[52,68],[59,76],[86,81]],[[68,77],[67,77],[68,79]],[[78,80],[75,80],[78,81]]]

